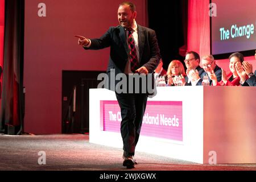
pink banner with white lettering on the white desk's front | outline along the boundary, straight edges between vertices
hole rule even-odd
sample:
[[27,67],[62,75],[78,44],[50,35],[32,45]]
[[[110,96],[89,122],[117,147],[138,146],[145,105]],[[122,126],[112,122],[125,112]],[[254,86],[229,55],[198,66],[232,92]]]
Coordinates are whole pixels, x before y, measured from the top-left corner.
[[[101,101],[101,126],[104,131],[120,132],[122,121],[117,101]],[[183,140],[181,101],[147,101],[141,135]]]

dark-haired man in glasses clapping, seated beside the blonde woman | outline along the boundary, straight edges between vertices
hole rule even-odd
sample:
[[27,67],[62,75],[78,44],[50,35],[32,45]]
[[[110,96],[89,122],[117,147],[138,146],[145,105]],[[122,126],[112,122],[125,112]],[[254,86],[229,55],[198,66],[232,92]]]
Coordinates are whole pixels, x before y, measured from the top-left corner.
[[204,69],[200,67],[200,56],[197,52],[190,51],[186,53],[185,65],[187,67],[187,76],[185,77],[185,85],[196,85],[197,80],[201,78],[204,73]]

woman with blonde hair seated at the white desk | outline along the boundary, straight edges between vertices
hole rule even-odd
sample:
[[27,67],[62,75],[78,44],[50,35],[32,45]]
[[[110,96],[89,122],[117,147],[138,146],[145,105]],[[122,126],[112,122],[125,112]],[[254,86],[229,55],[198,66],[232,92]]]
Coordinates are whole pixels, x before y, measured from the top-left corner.
[[177,78],[181,76],[182,85],[185,85],[185,69],[183,64],[179,60],[172,60],[171,63],[168,65],[167,69],[167,76],[168,76],[168,85],[175,86],[177,85]]

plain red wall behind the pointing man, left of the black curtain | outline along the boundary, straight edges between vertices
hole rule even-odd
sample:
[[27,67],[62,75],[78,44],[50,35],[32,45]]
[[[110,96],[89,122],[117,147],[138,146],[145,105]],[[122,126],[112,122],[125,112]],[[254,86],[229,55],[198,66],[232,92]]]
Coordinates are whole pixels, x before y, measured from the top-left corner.
[[[46,17],[38,16],[40,2],[25,1],[24,132],[61,133],[61,72],[105,71],[109,60],[109,48],[85,51],[74,35],[98,38],[110,26],[117,26],[121,1],[44,0]],[[137,22],[145,26],[146,1],[133,2],[137,5]]]

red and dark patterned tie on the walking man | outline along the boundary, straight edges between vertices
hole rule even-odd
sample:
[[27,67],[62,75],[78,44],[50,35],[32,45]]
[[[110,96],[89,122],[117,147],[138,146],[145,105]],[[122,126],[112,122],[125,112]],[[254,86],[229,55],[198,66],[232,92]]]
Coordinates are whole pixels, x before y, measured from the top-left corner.
[[127,28],[128,31],[128,46],[130,49],[130,62],[131,62],[131,71],[135,72],[139,68],[139,61],[136,53],[135,43],[133,39],[133,29]]

